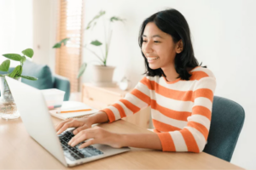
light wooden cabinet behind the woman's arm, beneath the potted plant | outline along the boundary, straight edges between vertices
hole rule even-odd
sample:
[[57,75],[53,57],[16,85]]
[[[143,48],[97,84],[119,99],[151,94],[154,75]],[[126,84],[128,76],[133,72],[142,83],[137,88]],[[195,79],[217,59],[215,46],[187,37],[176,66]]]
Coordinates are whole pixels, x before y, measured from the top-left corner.
[[[123,91],[119,88],[100,88],[90,83],[84,83],[82,86],[82,102],[86,105],[102,110],[109,105],[123,99],[125,94],[130,91]],[[132,116],[122,118],[127,122],[131,122],[139,127],[148,128],[150,118],[150,107],[137,112]]]

